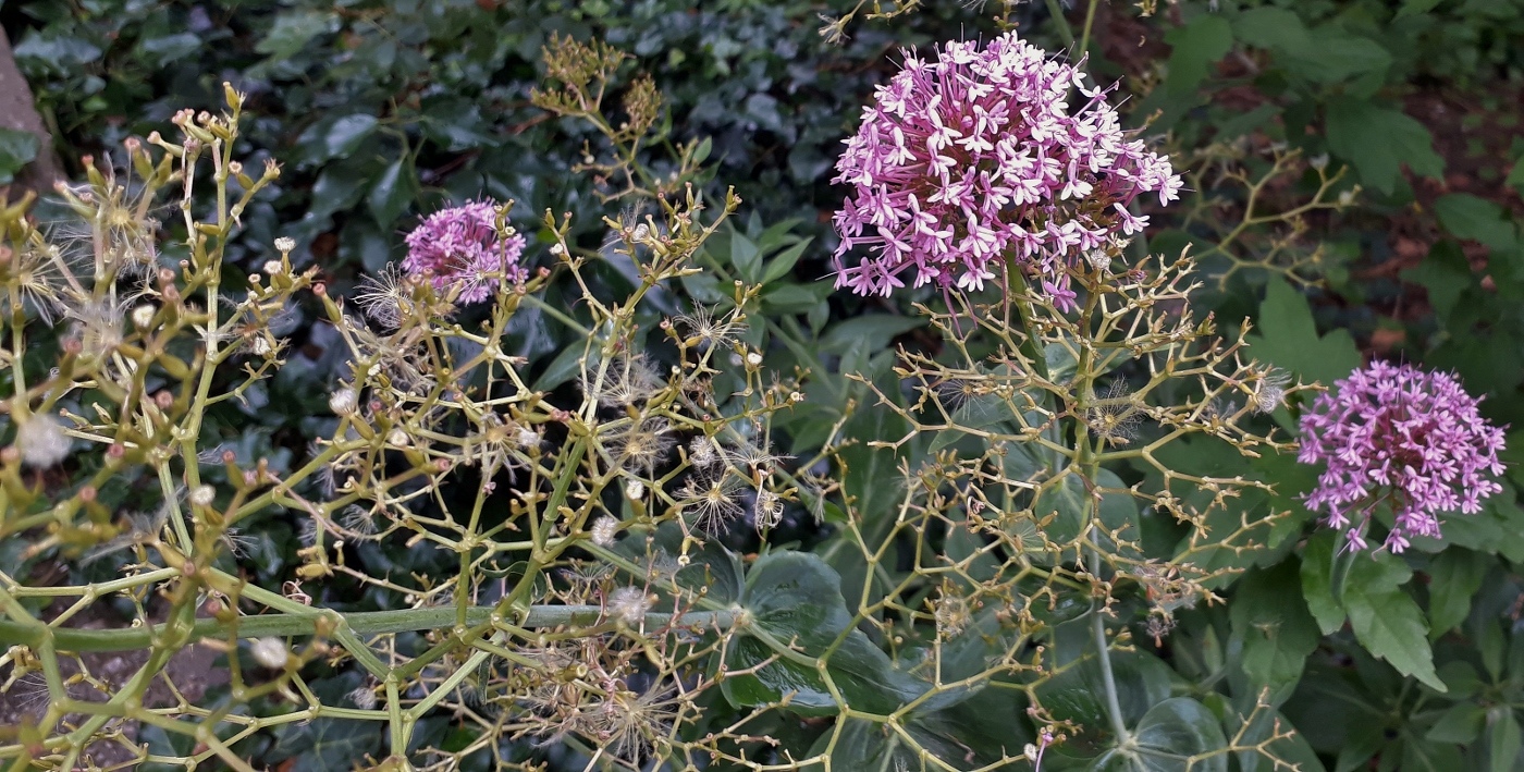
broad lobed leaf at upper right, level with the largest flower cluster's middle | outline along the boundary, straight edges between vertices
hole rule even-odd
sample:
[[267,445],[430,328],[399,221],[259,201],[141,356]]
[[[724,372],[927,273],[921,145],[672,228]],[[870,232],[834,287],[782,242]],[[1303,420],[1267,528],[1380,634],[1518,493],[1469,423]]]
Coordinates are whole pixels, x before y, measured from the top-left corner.
[[1326,117],[1329,150],[1353,163],[1370,188],[1391,194],[1402,165],[1423,177],[1445,172],[1445,159],[1434,153],[1428,128],[1401,110],[1338,99],[1327,105]]

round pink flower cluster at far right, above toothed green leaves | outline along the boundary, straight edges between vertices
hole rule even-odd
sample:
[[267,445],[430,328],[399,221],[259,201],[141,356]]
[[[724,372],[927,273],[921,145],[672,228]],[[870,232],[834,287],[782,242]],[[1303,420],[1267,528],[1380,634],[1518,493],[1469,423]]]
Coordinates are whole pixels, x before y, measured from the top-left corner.
[[1381,500],[1396,514],[1388,549],[1407,549],[1413,536],[1437,539],[1440,513],[1475,514],[1481,499],[1503,490],[1490,479],[1503,473],[1503,429],[1477,403],[1445,372],[1384,362],[1356,369],[1301,417],[1298,461],[1326,464],[1308,508],[1347,528],[1352,549],[1366,548]]

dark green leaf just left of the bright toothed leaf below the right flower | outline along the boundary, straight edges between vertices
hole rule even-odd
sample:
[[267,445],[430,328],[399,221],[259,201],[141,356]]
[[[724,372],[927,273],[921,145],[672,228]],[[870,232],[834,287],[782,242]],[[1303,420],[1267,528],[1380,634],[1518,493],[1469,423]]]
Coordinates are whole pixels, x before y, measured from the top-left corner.
[[1239,581],[1230,607],[1233,635],[1244,642],[1244,673],[1273,693],[1294,685],[1318,647],[1317,622],[1303,600],[1286,592],[1297,581],[1289,561],[1253,571]]

